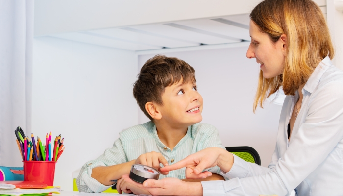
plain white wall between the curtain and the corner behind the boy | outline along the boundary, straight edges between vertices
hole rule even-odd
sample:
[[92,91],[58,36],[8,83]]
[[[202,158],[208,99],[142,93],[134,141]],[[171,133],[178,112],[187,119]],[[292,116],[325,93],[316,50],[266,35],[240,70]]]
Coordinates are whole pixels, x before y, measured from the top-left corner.
[[72,190],[72,172],[137,124],[137,58],[131,51],[49,37],[34,39],[33,57],[32,132],[65,138],[54,184]]

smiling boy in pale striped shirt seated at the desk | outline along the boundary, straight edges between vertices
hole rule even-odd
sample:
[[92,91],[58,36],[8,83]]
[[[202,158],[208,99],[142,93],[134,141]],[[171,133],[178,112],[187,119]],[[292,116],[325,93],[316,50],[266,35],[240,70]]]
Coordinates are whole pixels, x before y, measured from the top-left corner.
[[[76,180],[80,192],[108,189],[111,180],[128,174],[133,164],[159,169],[206,147],[225,149],[218,130],[200,123],[203,100],[194,73],[186,62],[166,56],[157,55],[144,64],[133,95],[151,121],[122,131],[112,148],[83,165]],[[207,171],[209,177],[203,180],[224,179],[217,166]],[[185,179],[185,169],[162,172],[160,179],[164,177]]]

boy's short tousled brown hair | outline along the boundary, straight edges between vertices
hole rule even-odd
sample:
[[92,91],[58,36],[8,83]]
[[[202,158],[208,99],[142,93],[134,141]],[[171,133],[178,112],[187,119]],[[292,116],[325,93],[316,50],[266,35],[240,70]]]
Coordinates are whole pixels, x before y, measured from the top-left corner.
[[163,105],[164,89],[179,81],[195,83],[194,73],[193,67],[183,60],[156,55],[147,60],[137,75],[137,81],[133,85],[133,96],[144,114],[153,121],[145,109],[146,103]]

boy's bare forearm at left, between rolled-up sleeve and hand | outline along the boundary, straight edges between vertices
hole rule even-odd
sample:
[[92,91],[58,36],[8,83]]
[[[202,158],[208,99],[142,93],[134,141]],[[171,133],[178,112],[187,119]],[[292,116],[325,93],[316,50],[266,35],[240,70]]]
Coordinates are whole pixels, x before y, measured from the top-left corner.
[[117,180],[124,174],[130,173],[132,165],[136,160],[121,163],[113,166],[99,166],[92,169],[91,177],[98,180],[101,184],[109,186],[114,184],[110,180]]

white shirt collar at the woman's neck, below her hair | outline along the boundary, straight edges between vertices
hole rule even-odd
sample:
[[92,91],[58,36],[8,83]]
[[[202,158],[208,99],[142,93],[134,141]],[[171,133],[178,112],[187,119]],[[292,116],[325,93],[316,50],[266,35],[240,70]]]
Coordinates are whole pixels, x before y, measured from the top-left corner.
[[315,90],[315,88],[317,87],[321,76],[323,76],[326,70],[331,66],[332,62],[328,56],[320,61],[319,65],[315,68],[310,78],[307,80],[303,89],[308,91],[309,93],[312,93],[313,90]]

